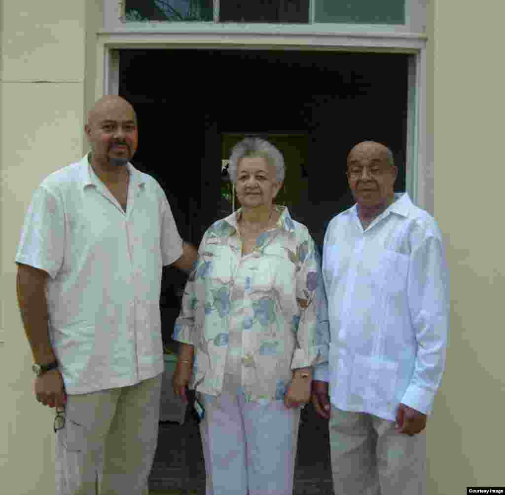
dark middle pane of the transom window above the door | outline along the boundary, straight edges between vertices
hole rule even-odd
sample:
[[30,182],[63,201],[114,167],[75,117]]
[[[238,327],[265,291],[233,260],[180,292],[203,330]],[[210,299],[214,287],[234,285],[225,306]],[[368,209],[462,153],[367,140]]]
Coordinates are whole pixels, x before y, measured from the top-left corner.
[[220,0],[220,22],[309,22],[309,0]]

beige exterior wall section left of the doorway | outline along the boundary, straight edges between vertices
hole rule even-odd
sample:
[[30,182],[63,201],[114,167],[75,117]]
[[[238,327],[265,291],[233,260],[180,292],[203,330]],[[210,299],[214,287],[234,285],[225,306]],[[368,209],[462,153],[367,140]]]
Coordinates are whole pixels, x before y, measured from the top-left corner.
[[50,495],[55,493],[54,412],[33,397],[13,259],[34,189],[83,153],[101,2],[4,0],[0,5],[0,479],[5,493]]

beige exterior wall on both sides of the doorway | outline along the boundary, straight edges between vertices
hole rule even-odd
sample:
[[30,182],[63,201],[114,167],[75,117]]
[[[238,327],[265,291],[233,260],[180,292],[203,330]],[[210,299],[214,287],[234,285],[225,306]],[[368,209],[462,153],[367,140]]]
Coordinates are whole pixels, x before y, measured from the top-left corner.
[[[457,495],[467,485],[505,484],[505,238],[501,208],[493,208],[505,183],[505,6],[495,0],[428,5],[427,122],[452,314],[446,373],[427,430],[427,493]],[[95,33],[101,9],[99,0],[4,0],[0,12],[0,479],[13,494],[54,493],[53,412],[32,395],[13,258],[34,188],[85,151],[85,109],[100,73]]]

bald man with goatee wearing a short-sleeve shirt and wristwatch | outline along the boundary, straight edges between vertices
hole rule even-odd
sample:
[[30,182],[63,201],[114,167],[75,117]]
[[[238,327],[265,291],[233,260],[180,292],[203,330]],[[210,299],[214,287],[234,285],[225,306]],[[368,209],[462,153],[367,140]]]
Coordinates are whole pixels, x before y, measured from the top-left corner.
[[164,371],[162,267],[189,272],[196,250],[160,185],[130,163],[133,107],[101,98],[85,133],[91,151],[33,195],[18,302],[35,397],[56,408],[57,494],[146,495]]

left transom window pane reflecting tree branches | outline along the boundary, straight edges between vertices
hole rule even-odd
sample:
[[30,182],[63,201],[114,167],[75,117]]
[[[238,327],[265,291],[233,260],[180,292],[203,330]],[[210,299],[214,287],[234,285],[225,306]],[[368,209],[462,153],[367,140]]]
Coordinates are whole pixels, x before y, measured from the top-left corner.
[[126,0],[127,21],[212,21],[213,0]]

